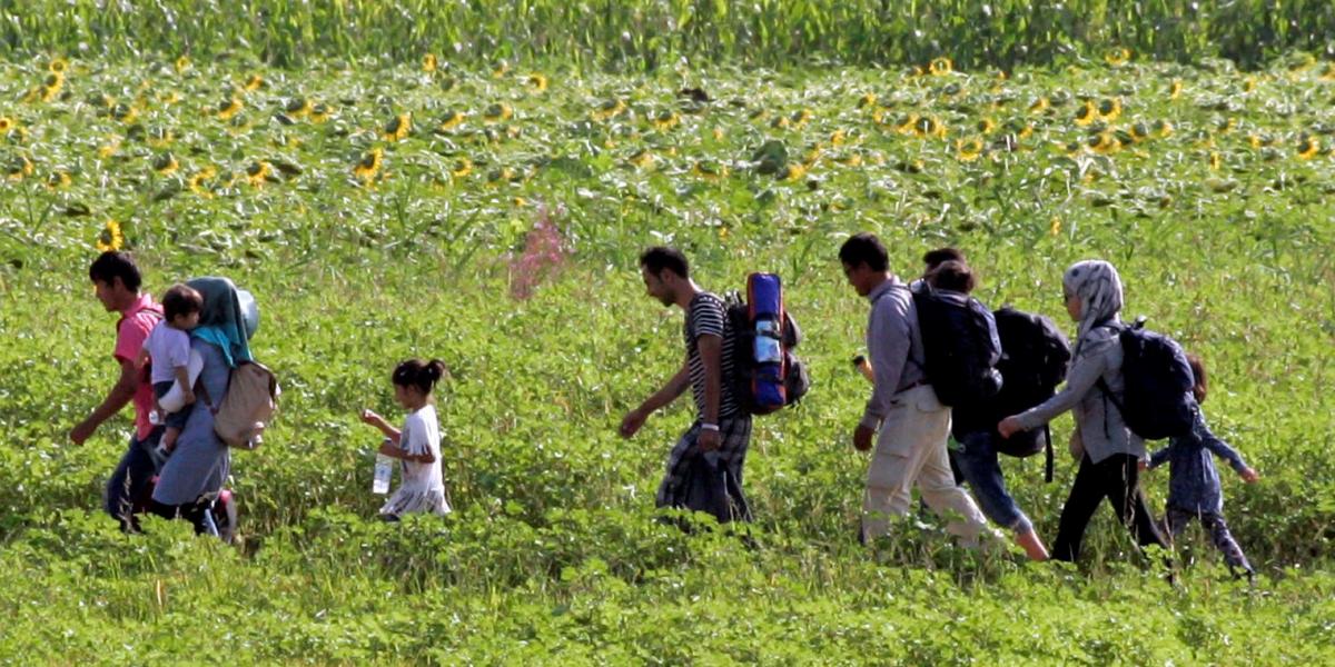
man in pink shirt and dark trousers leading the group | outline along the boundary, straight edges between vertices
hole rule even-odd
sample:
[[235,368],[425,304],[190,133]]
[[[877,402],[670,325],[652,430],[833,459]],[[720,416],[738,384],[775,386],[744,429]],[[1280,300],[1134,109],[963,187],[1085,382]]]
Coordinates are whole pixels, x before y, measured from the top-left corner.
[[115,416],[125,403],[135,406],[135,435],[120,464],[107,482],[105,510],[120,522],[123,530],[134,530],[134,506],[147,490],[155,472],[150,455],[154,424],[148,412],[154,407],[154,388],[147,382],[147,368],[136,368],[135,360],[144,339],[162,319],[162,307],[148,293],[142,293],[142,277],[134,257],[125,252],[103,252],[88,267],[97,300],[107,312],[119,312],[116,347],[112,358],[120,364],[120,378],[107,392],[107,398],[83,422],[69,431],[69,440],[83,444],[103,422]]

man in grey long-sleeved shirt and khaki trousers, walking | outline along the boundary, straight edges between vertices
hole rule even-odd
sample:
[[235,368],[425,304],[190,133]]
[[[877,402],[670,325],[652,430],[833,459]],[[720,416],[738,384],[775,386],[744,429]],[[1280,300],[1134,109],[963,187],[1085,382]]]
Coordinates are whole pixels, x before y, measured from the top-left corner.
[[951,475],[945,450],[951,408],[941,406],[922,371],[913,296],[889,272],[889,253],[874,235],[853,235],[838,256],[849,284],[872,301],[866,348],[876,388],[853,432],[858,451],[870,450],[880,432],[862,496],[862,540],[886,535],[889,518],[908,514],[916,483],[928,507],[949,520],[947,531],[976,544],[988,530],[987,519]]

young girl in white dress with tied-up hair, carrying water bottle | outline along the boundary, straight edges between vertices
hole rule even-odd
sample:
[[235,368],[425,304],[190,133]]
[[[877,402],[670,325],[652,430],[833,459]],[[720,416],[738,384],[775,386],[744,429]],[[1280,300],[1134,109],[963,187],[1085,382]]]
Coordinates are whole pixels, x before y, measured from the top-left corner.
[[394,368],[394,400],[409,411],[402,431],[380,415],[362,411],[362,422],[379,428],[388,439],[380,446],[380,454],[402,462],[402,484],[380,507],[382,519],[392,522],[411,512],[450,514],[441,478],[441,427],[431,398],[442,375],[445,363],[438,359],[425,363],[409,359]]

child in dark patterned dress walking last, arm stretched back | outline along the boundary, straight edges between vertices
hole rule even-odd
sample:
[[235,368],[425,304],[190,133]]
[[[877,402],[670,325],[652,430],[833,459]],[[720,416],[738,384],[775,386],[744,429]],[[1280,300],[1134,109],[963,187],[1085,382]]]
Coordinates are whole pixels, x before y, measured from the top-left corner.
[[[1196,376],[1196,386],[1192,392],[1196,403],[1204,403],[1208,384],[1206,382],[1206,367],[1200,358],[1187,355],[1191,363],[1191,372]],[[1224,494],[1219,487],[1219,472],[1215,471],[1215,462],[1211,454],[1228,462],[1228,464],[1248,484],[1260,479],[1260,475],[1243,462],[1238,450],[1215,438],[1206,426],[1204,414],[1196,410],[1196,423],[1191,432],[1168,442],[1164,447],[1149,456],[1148,464],[1141,462],[1141,468],[1156,468],[1168,462],[1168,532],[1173,540],[1181,535],[1183,530],[1192,519],[1200,519],[1200,524],[1210,531],[1210,538],[1215,547],[1224,555],[1224,562],[1235,574],[1244,574],[1252,578],[1252,567],[1243,555],[1242,547],[1228,531],[1224,523]]]

